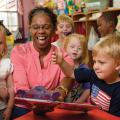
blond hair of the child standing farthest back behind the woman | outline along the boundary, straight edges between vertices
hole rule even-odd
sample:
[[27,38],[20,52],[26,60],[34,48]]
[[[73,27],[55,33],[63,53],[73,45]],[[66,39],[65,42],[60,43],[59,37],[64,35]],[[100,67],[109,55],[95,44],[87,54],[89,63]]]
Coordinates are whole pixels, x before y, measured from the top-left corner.
[[61,14],[57,17],[57,24],[61,23],[61,22],[67,22],[67,23],[70,23],[71,26],[72,26],[72,29],[74,31],[74,22],[73,22],[73,19],[71,17],[69,17],[68,15],[66,14]]

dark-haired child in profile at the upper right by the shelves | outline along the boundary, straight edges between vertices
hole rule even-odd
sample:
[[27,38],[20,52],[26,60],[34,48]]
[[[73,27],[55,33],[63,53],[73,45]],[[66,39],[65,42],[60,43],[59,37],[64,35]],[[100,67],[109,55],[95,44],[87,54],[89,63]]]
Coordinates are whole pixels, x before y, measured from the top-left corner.
[[103,12],[101,16],[98,18],[97,27],[98,27],[98,31],[100,33],[101,38],[106,37],[109,34],[120,34],[116,30],[118,15],[119,15],[119,12],[118,13]]

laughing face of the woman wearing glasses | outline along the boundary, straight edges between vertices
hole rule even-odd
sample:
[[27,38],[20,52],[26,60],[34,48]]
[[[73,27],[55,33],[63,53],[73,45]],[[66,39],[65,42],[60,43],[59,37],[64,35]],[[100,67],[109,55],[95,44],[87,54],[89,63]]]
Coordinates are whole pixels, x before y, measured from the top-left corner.
[[46,14],[35,15],[30,25],[30,33],[37,51],[46,50],[50,46],[50,39],[54,34],[50,17]]

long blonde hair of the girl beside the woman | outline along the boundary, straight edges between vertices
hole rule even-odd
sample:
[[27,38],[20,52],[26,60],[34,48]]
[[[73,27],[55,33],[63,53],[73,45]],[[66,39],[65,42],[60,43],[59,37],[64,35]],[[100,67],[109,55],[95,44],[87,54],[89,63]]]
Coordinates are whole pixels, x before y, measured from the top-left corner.
[[88,58],[88,49],[87,49],[87,41],[84,35],[82,34],[77,34],[77,33],[72,33],[68,36],[65,37],[64,39],[64,49],[67,49],[68,43],[69,41],[72,39],[74,40],[74,38],[78,38],[80,40],[80,44],[82,47],[82,62],[83,64],[88,64],[89,62],[89,58]]

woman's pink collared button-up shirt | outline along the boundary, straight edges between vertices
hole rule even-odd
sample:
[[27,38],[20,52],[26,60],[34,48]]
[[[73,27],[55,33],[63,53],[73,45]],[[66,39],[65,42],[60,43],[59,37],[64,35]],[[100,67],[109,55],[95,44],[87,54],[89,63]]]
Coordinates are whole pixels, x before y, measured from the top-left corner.
[[[52,63],[51,55],[55,49],[56,47],[52,45],[50,52],[43,58],[44,67],[41,68],[39,53],[34,49],[33,42],[13,48],[11,60],[14,65],[15,91],[29,90],[38,85],[51,90],[59,85],[65,75],[59,65]],[[66,52],[64,52],[64,59],[73,65],[72,59]]]

